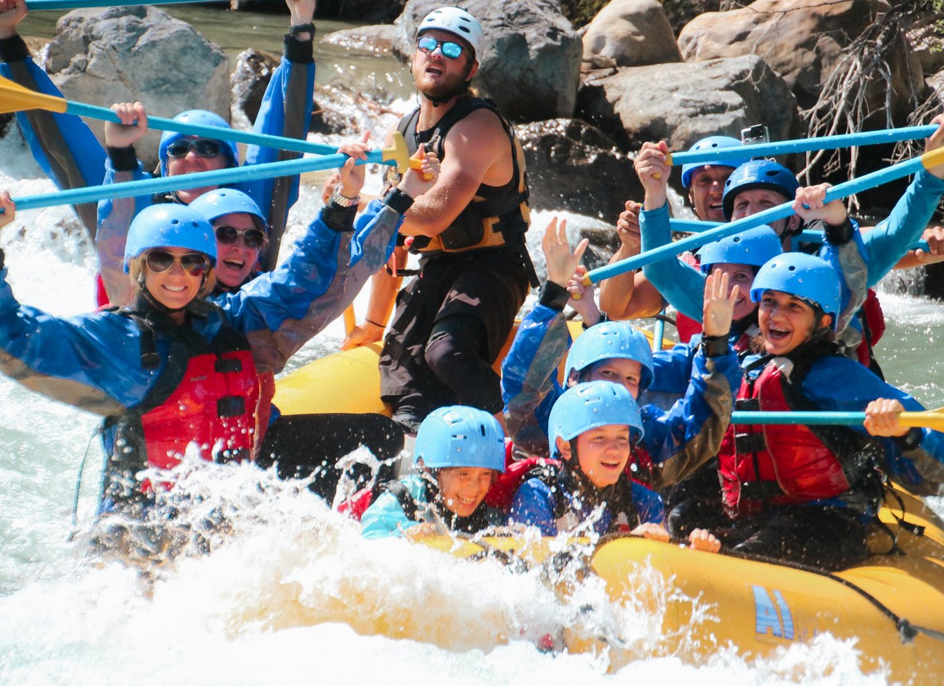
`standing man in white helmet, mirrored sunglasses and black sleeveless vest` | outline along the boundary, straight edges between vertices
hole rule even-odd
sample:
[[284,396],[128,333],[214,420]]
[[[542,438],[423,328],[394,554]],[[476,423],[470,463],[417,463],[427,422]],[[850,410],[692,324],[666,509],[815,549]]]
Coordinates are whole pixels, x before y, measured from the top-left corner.
[[[411,71],[419,107],[398,129],[413,153],[442,160],[439,179],[406,212],[397,248],[420,256],[421,274],[396,298],[380,356],[380,392],[394,419],[415,432],[438,407],[502,409],[492,362],[533,285],[524,245],[528,187],[514,129],[469,82],[485,49],[479,22],[460,8],[434,9],[415,35]],[[402,275],[401,275],[402,276]],[[365,322],[345,347],[379,341],[400,277],[375,277]]]

